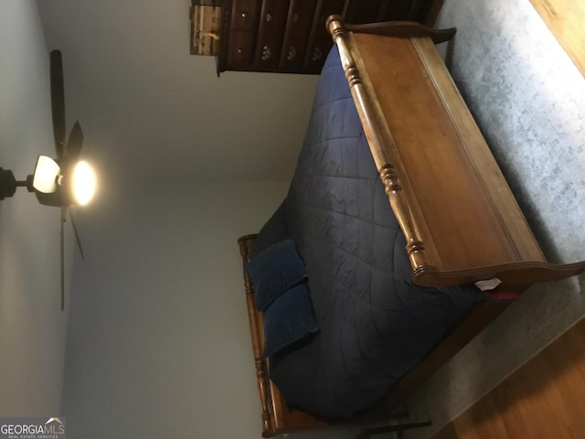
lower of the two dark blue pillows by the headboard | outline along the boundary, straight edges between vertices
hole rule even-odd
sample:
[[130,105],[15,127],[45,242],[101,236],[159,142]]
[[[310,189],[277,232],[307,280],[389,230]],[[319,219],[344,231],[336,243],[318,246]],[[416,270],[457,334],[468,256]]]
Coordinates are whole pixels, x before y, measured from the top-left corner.
[[306,284],[298,284],[275,299],[263,313],[264,357],[288,348],[319,331]]

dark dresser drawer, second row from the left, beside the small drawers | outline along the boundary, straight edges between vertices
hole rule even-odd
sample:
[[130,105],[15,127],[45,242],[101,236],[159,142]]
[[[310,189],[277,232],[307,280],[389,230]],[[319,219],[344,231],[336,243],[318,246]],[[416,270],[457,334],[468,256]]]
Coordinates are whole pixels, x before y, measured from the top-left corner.
[[287,0],[264,0],[259,20],[254,64],[260,70],[278,67],[282,35],[289,10]]

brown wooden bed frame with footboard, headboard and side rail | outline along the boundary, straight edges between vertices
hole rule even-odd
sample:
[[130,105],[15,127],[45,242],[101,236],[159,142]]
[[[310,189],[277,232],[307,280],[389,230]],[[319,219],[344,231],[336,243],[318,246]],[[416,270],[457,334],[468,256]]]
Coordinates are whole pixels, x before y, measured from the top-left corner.
[[[388,199],[407,239],[412,279],[422,286],[487,281],[515,292],[585,272],[585,262],[549,263],[435,48],[454,29],[415,23],[326,23]],[[255,235],[239,239],[242,262]],[[262,358],[262,316],[244,271],[261,397],[262,435],[330,425],[287,408]],[[478,284],[479,285],[479,284]],[[389,395],[400,402],[506,306],[485,302],[463,318]]]

